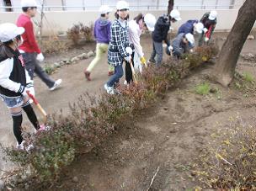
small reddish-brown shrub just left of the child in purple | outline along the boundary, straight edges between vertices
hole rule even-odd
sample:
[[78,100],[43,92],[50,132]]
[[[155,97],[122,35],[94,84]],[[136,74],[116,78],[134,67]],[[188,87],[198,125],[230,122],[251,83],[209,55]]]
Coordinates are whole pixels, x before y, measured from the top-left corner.
[[79,45],[81,40],[90,42],[93,40],[93,25],[88,27],[82,23],[74,24],[67,30],[67,38],[72,40],[74,45]]

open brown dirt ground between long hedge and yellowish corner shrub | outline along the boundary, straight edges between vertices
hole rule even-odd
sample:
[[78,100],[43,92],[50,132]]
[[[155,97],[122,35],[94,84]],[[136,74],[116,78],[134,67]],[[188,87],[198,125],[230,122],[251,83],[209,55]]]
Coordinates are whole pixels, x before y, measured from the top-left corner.
[[[219,88],[219,98],[195,94],[195,85],[207,81],[211,67],[185,79],[181,88],[137,119],[135,127],[123,127],[80,157],[58,190],[147,190],[157,167],[151,190],[195,188],[189,168],[209,136],[237,114],[248,123],[255,121],[255,98],[217,84],[211,87]],[[78,183],[72,182],[74,177]]]

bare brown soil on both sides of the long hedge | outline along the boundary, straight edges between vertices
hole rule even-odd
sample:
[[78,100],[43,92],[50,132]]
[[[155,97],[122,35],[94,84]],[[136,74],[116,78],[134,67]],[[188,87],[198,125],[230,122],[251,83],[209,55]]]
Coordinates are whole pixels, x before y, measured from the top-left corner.
[[[151,40],[142,38],[147,57],[151,51]],[[223,44],[223,40],[218,43]],[[243,53],[256,53],[255,40],[248,40]],[[49,92],[38,78],[35,90],[41,105],[49,113],[62,109],[69,113],[68,103],[77,100],[85,91],[98,94],[108,80],[107,64],[102,61],[93,71],[92,82],[83,76],[83,68],[89,61],[65,66],[52,77],[62,77],[62,88]],[[237,90],[218,88],[220,94],[201,96],[195,93],[195,86],[208,82],[213,66],[204,66],[191,72],[179,88],[169,91],[151,109],[143,111],[135,125],[127,124],[115,131],[101,146],[93,149],[73,162],[63,172],[60,183],[49,190],[147,190],[153,175],[159,171],[151,190],[186,190],[198,183],[190,174],[190,167],[199,156],[202,147],[213,132],[226,127],[229,118],[237,114],[248,124],[255,123],[255,98],[244,98]],[[256,77],[255,63],[239,61],[239,72],[251,72]],[[12,121],[8,110],[0,104],[0,142],[14,145],[11,131]],[[132,124],[132,123],[131,123]],[[29,126],[27,119],[25,125]],[[9,168],[0,162],[0,169]]]

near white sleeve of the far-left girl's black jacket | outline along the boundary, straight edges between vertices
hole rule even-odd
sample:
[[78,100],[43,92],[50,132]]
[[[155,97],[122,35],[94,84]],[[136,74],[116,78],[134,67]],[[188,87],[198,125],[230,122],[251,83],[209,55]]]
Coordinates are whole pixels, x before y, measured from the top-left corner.
[[13,71],[13,58],[0,62],[0,86],[10,91],[18,93],[21,89],[21,84],[13,82],[9,79]]

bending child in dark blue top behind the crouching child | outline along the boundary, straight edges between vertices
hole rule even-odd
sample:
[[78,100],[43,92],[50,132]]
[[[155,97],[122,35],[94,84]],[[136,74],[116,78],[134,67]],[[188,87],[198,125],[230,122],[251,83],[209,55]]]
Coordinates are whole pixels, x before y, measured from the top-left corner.
[[182,24],[179,27],[178,34],[184,33],[190,33],[195,34],[195,31],[199,34],[203,32],[204,24],[198,22],[198,20],[188,20],[186,23]]

